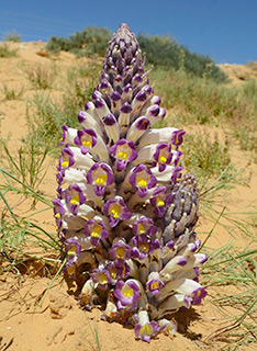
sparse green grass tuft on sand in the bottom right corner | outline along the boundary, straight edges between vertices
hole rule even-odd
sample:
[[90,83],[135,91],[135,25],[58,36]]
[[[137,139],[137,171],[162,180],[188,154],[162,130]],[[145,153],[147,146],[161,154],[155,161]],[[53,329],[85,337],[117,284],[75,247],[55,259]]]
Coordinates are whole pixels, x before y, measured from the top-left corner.
[[[209,299],[223,318],[223,327],[208,336],[205,342],[226,340],[227,350],[254,347],[257,342],[257,250],[250,246],[238,249],[228,244],[206,252],[209,260],[202,268],[201,282],[213,286],[215,297]],[[228,347],[231,343],[233,349]]]

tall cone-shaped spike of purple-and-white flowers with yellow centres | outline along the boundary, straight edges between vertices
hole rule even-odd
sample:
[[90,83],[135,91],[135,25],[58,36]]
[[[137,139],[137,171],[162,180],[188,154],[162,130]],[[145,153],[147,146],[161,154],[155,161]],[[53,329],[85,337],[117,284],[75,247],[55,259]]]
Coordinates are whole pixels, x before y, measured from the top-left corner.
[[63,127],[53,201],[81,305],[102,303],[102,318],[133,324],[144,341],[174,335],[176,321],[165,316],[206,295],[198,280],[206,257],[193,231],[197,182],[179,166],[185,132],[150,128],[164,116],[138,43],[121,24],[92,102],[78,114],[81,129]]

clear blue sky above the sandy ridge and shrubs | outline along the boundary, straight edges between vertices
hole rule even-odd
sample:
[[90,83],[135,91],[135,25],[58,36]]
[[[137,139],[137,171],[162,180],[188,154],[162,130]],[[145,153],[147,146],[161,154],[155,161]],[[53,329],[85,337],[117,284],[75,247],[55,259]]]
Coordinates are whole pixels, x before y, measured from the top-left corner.
[[1,0],[0,37],[68,37],[88,25],[169,35],[217,64],[257,60],[257,0]]

